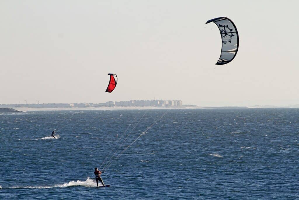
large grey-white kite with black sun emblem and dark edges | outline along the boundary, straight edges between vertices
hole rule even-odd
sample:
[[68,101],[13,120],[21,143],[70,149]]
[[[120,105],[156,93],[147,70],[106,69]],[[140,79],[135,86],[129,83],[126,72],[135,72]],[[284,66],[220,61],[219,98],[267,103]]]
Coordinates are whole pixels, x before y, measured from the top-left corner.
[[206,24],[210,22],[214,22],[218,26],[222,39],[221,55],[216,64],[227,64],[235,58],[238,52],[239,34],[237,28],[234,22],[227,17],[210,19]]

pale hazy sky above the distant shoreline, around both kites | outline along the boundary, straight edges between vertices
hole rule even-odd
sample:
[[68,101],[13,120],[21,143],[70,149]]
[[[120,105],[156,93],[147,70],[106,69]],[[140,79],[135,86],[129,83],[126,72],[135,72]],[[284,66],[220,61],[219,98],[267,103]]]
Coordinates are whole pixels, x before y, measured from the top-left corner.
[[[0,0],[0,103],[299,103],[299,1]],[[226,16],[239,51],[215,65]],[[106,93],[108,73],[118,85]]]

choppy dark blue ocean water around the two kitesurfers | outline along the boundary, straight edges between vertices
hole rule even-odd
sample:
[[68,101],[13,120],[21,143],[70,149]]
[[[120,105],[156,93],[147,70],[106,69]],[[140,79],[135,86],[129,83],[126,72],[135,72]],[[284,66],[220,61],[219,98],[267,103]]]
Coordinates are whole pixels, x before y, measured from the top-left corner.
[[0,199],[299,199],[299,109],[166,111],[1,114]]

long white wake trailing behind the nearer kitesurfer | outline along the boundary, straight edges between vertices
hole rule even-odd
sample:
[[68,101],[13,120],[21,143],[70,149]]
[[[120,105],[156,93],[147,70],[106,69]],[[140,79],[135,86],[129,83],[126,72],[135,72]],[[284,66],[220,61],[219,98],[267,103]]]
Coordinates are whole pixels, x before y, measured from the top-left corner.
[[[70,181],[64,184],[56,184],[52,186],[13,186],[8,188],[2,189],[48,189],[48,188],[63,188],[63,187],[75,187],[75,186],[83,186],[83,187],[97,187],[97,184],[94,182],[93,179],[87,178],[86,181]],[[99,186],[102,186],[99,183]]]

